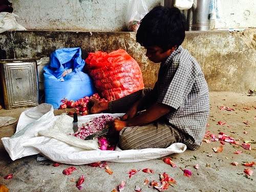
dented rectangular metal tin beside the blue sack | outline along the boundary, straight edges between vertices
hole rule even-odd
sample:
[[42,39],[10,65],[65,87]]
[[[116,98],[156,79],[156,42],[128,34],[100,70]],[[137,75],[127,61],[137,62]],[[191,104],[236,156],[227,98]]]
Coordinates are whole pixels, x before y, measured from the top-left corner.
[[33,59],[0,60],[5,109],[38,105],[38,74]]

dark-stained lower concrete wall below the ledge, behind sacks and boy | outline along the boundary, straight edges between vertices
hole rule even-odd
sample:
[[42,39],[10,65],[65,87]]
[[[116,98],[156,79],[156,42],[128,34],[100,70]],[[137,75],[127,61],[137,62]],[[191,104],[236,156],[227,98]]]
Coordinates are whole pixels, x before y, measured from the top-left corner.
[[[248,38],[243,38],[247,34]],[[0,34],[0,48],[7,58],[49,56],[64,47],[81,47],[82,57],[89,52],[125,49],[139,63],[146,87],[153,87],[159,65],[145,56],[134,32],[23,31]],[[256,89],[256,29],[187,32],[183,47],[199,61],[211,91],[247,92]]]

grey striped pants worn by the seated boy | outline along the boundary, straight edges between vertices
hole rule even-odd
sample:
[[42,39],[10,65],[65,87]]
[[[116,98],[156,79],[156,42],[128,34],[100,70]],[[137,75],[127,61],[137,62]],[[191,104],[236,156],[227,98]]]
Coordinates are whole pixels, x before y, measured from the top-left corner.
[[[110,113],[125,113],[134,102],[151,94],[152,89],[143,89],[109,103]],[[139,110],[147,109],[154,101],[147,100]],[[182,142],[183,135],[163,119],[144,126],[123,127],[119,133],[119,146],[122,150],[138,150],[141,148],[166,148],[169,145]]]

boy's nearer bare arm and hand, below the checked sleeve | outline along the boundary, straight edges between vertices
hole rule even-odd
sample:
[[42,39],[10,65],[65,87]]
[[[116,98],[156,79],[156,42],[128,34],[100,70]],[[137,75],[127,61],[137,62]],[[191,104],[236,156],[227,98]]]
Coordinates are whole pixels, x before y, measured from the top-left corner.
[[116,131],[121,131],[125,126],[145,125],[159,119],[170,111],[175,111],[175,109],[168,105],[156,102],[148,110],[128,121],[115,120],[114,127]]

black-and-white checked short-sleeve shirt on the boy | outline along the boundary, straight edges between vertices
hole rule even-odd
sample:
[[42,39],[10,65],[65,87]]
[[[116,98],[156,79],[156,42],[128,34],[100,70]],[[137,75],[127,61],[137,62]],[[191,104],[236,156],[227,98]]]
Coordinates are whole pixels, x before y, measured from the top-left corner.
[[190,53],[179,46],[160,65],[157,102],[171,106],[168,122],[184,134],[183,142],[191,150],[201,145],[209,115],[209,91],[204,74]]

